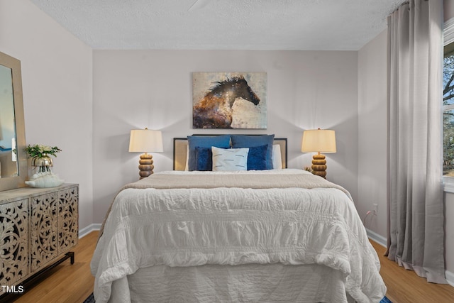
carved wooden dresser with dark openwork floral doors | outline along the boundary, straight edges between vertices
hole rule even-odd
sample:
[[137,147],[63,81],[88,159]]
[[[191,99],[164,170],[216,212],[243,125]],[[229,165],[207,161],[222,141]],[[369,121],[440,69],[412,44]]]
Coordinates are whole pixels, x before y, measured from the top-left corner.
[[79,184],[0,192],[0,301],[43,269],[74,263],[78,221]]

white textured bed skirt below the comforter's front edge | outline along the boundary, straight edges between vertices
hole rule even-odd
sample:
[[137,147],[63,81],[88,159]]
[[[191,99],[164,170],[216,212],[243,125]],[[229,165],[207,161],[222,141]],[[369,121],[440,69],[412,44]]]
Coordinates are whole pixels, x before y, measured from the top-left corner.
[[109,302],[341,303],[350,301],[344,285],[324,265],[157,265],[114,281]]

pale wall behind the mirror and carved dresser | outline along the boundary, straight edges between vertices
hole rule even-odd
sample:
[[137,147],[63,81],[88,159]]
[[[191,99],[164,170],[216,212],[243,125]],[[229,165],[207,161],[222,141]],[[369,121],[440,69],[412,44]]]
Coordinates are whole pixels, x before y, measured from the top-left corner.
[[26,142],[57,145],[54,171],[79,183],[92,224],[92,50],[28,0],[0,0],[0,51],[21,60]]

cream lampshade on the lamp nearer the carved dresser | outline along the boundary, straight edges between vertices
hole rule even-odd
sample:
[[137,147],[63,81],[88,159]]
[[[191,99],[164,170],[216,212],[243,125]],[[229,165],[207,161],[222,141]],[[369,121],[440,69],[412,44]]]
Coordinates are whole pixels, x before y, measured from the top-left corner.
[[133,129],[129,138],[129,151],[137,153],[162,152],[162,133],[151,129]]

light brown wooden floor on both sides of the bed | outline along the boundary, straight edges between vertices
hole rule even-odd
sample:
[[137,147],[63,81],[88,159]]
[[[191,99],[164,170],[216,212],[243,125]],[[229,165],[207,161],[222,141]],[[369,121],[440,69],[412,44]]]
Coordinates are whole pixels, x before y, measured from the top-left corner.
[[[98,233],[89,233],[79,239],[74,249],[75,263],[70,265],[67,260],[58,265],[50,274],[35,287],[15,302],[33,303],[82,303],[93,292],[94,277],[90,273],[92,259]],[[384,248],[372,241],[372,245],[380,257],[380,271],[387,285],[387,297],[393,303],[452,303],[454,287],[426,282],[414,272],[399,266],[383,256]],[[1,301],[1,299],[0,299]]]

